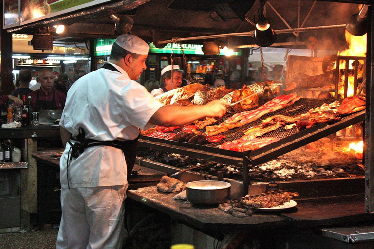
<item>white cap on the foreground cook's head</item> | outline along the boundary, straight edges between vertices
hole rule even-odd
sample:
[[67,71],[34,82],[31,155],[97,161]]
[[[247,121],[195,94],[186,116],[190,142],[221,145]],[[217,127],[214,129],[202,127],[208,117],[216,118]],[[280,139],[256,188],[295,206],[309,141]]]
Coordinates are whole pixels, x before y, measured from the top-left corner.
[[134,35],[120,35],[115,40],[118,46],[131,53],[147,55],[150,47],[147,42]]

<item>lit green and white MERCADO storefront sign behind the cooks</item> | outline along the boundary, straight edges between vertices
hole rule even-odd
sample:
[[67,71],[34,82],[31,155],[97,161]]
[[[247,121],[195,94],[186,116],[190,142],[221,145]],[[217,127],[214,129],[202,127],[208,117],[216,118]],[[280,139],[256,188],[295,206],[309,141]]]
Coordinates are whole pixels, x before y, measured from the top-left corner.
[[[95,42],[95,55],[96,56],[105,56],[111,53],[112,45],[115,42],[115,39],[97,39]],[[149,53],[172,53],[182,54],[182,49],[180,44],[168,43],[165,48],[158,49],[154,46],[153,42],[148,44],[150,46]],[[203,45],[200,44],[182,44],[182,48],[185,54],[194,54],[194,55],[204,55],[202,51]],[[221,51],[220,55],[224,55],[224,52]],[[242,52],[234,52],[233,55],[240,56]]]

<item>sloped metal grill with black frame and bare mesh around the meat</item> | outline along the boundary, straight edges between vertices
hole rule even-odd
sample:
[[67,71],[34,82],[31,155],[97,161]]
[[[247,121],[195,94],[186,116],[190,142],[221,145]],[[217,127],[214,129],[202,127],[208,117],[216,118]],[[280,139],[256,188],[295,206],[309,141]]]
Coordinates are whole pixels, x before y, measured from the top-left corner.
[[[334,100],[332,100],[334,101]],[[225,141],[232,141],[243,136],[243,132],[251,126],[260,125],[262,120],[271,117],[273,115],[282,114],[288,116],[298,116],[302,113],[308,112],[312,108],[316,108],[325,103],[326,100],[318,99],[300,99],[295,104],[285,107],[281,110],[268,113],[262,116],[259,120],[243,125],[227,132],[222,133],[226,136]],[[227,114],[221,118],[217,124],[221,123],[234,113]],[[258,150],[237,152],[219,149],[218,144],[198,145],[186,142],[170,141],[165,139],[141,136],[139,139],[139,146],[148,147],[156,150],[167,151],[170,153],[182,154],[190,157],[217,161],[226,164],[233,164],[243,167],[243,194],[248,193],[249,178],[248,178],[248,167],[261,164],[268,160],[272,160],[280,155],[297,149],[310,142],[317,141],[327,135],[333,134],[343,128],[350,125],[354,125],[364,120],[365,111],[354,113],[343,117],[341,120],[327,124],[322,123],[314,125],[311,128],[298,131],[296,128],[291,130],[285,130],[279,128],[263,136],[277,137],[280,141],[274,142],[267,146],[264,146]],[[176,130],[175,132],[178,132]],[[220,142],[222,143],[222,142]]]

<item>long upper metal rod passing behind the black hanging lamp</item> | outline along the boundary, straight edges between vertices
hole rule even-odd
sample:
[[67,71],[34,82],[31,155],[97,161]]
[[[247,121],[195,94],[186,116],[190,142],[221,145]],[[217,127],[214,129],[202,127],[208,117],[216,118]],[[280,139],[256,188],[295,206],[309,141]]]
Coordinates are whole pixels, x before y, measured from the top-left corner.
[[[318,26],[318,27],[307,27],[307,28],[299,28],[299,29],[281,29],[275,30],[276,34],[284,34],[284,33],[293,33],[293,32],[307,32],[307,31],[315,31],[315,30],[326,30],[326,29],[345,29],[345,24],[339,25],[329,25],[329,26]],[[219,35],[209,35],[209,36],[195,36],[195,37],[186,37],[186,38],[177,38],[176,42],[181,41],[193,41],[193,40],[202,40],[202,39],[215,39],[215,38],[222,38],[222,37],[234,37],[234,36],[254,36],[255,31],[249,32],[241,32],[241,33],[228,33],[228,34],[219,34]],[[159,41],[159,44],[165,44],[173,42],[173,40],[164,40]]]

